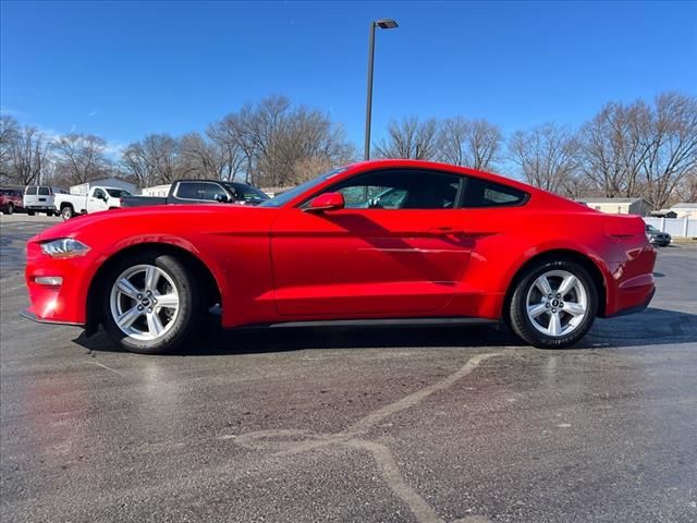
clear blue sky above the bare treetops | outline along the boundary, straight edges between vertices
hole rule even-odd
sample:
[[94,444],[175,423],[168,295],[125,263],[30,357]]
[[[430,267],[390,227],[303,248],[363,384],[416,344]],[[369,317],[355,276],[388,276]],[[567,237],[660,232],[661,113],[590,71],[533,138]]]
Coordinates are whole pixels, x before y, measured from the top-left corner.
[[577,125],[608,100],[697,93],[697,3],[5,2],[0,102],[54,133],[182,134],[269,94],[330,111],[360,146],[403,115],[505,132]]

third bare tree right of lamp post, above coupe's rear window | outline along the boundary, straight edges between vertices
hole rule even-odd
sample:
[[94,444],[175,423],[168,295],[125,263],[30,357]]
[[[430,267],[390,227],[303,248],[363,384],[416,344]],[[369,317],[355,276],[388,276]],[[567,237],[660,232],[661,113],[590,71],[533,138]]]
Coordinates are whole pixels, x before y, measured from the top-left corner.
[[567,188],[578,165],[576,137],[553,123],[517,131],[511,137],[509,150],[528,183],[553,193]]

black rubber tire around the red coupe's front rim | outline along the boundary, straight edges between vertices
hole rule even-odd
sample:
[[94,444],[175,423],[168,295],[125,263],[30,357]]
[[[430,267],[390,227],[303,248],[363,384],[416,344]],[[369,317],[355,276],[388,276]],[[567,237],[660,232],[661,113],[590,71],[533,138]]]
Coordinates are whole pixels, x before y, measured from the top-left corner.
[[[152,265],[164,271],[176,288],[179,294],[179,312],[172,326],[161,338],[156,340],[138,340],[127,336],[117,325],[111,312],[111,290],[117,279],[127,269],[138,265]],[[154,251],[134,253],[113,264],[103,280],[102,325],[110,337],[123,349],[140,354],[162,354],[181,346],[193,336],[203,317],[204,296],[195,291],[195,272],[189,270],[176,257],[159,254]],[[169,324],[168,324],[169,325]]]

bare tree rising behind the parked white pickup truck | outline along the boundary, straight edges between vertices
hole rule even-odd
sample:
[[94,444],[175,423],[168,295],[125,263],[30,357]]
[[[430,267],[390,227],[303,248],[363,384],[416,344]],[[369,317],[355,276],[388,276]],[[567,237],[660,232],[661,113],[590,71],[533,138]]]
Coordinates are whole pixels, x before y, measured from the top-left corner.
[[107,141],[101,136],[71,133],[61,136],[53,147],[57,170],[71,184],[96,180],[109,170]]

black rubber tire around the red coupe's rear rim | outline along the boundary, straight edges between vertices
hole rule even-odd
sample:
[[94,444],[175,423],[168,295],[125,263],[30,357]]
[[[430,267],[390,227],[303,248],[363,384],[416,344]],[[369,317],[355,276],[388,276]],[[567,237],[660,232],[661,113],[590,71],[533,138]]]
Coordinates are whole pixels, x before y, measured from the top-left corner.
[[[572,331],[561,336],[549,336],[535,327],[527,313],[527,297],[535,287],[536,280],[550,271],[565,271],[575,276],[586,292],[586,314]],[[598,290],[588,273],[580,264],[572,260],[541,262],[528,268],[517,279],[516,288],[511,299],[509,318],[513,331],[525,342],[538,349],[565,349],[579,341],[596,319],[598,313]],[[567,313],[560,312],[560,315]],[[565,316],[564,316],[565,317]],[[571,317],[571,315],[568,315]],[[551,318],[550,318],[551,319]],[[548,325],[548,327],[550,327]]]

